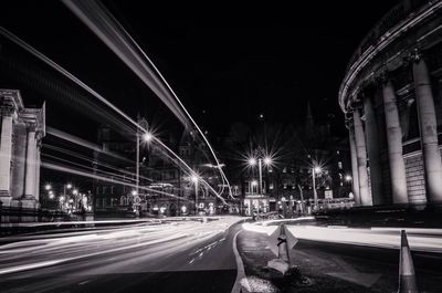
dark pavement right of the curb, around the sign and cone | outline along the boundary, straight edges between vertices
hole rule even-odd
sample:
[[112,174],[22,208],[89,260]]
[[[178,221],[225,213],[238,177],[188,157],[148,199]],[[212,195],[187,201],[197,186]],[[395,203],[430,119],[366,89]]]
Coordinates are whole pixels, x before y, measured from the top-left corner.
[[[299,240],[291,250],[291,262],[312,284],[287,286],[266,268],[276,257],[270,251],[267,236],[244,230],[238,237],[252,292],[396,292],[399,250],[320,243]],[[413,253],[418,283],[422,292],[442,292],[439,268],[442,259],[431,253]]]

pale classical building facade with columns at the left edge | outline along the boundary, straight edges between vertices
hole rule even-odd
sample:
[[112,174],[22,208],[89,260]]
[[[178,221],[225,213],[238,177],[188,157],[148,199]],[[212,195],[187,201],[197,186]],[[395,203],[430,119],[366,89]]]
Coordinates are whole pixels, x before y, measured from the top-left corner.
[[44,105],[23,106],[20,91],[0,90],[0,201],[2,207],[39,208],[40,149]]

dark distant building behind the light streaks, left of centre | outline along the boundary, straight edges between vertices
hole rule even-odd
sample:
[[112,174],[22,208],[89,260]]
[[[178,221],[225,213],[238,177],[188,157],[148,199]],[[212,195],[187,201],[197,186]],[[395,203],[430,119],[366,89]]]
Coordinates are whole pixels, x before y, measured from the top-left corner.
[[[139,123],[146,123],[140,119]],[[207,159],[204,146],[196,144],[191,133],[185,133],[179,143],[172,136],[161,137],[190,168],[201,169],[201,178],[209,184],[215,179],[202,170]],[[98,130],[103,151],[95,153],[94,210],[97,213],[135,213],[145,216],[181,216],[196,212],[196,188],[188,171],[179,168],[177,159],[164,148],[139,143],[139,185],[136,192],[137,143],[122,137],[108,126]],[[112,168],[109,168],[112,166]],[[102,179],[99,178],[102,177]],[[215,213],[219,201],[207,187],[198,186],[199,211]]]

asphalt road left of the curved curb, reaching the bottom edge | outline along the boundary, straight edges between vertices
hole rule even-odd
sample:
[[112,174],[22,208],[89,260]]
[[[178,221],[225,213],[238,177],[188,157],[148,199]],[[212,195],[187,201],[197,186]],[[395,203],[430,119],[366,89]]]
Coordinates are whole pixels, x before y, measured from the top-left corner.
[[2,239],[1,292],[231,292],[240,218]]

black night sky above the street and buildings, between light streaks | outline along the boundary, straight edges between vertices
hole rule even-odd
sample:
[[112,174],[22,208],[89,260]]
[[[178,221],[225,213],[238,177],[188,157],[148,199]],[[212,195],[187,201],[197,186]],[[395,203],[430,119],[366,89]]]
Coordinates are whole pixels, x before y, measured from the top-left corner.
[[[224,135],[235,122],[254,124],[260,114],[271,123],[302,124],[307,101],[317,121],[332,117],[333,130],[345,135],[337,94],[348,60],[368,30],[396,3],[308,1],[261,7],[261,12],[213,7],[188,13],[144,7],[145,2],[104,3],[199,125],[215,135]],[[152,92],[61,2],[9,1],[1,9],[1,27],[131,117],[146,115],[166,132],[177,125]],[[0,86],[20,84],[0,81]],[[50,126],[85,138],[94,136],[87,111],[27,92],[25,86],[21,90],[25,104],[46,100]]]

